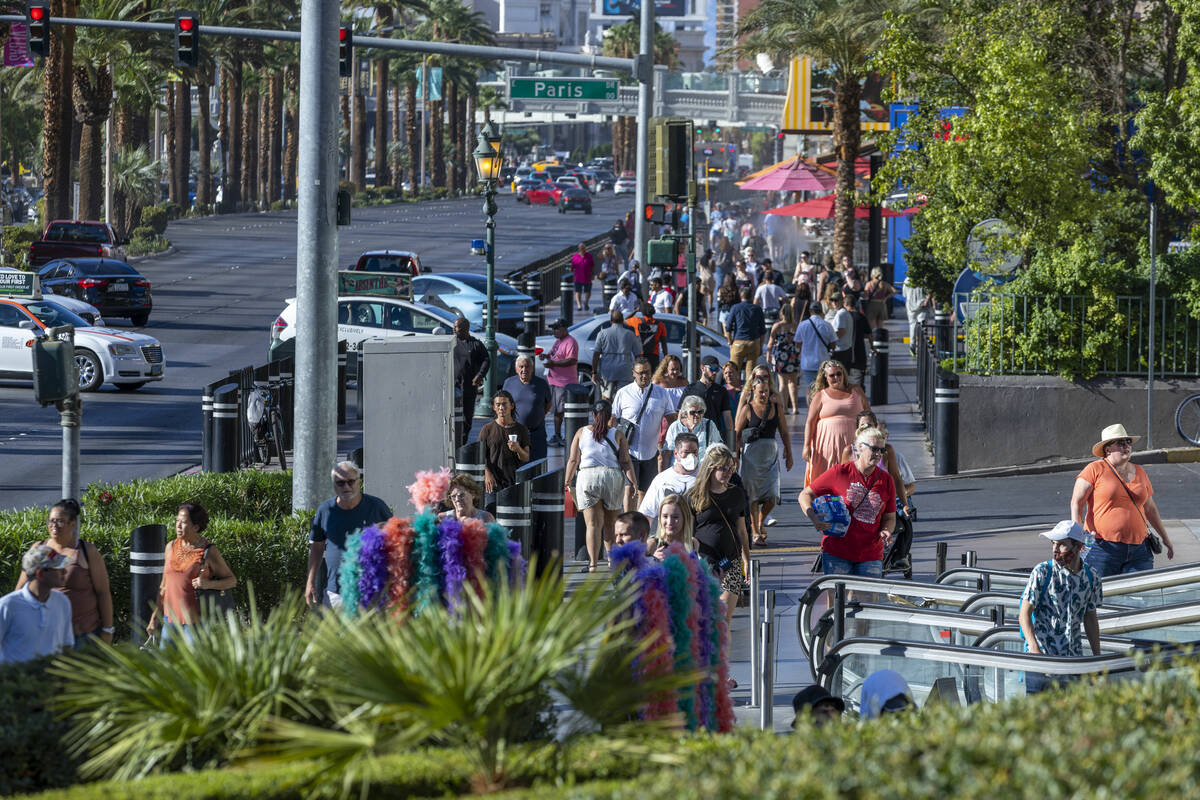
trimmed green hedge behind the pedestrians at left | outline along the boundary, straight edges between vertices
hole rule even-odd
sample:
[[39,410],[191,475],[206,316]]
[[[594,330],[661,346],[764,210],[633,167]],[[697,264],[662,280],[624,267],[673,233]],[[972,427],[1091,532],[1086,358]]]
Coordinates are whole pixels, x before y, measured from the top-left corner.
[[[238,576],[234,590],[246,607],[253,584],[260,607],[278,602],[287,588],[302,589],[312,513],[292,515],[292,474],[244,470],[226,475],[176,475],[128,483],[94,483],[83,497],[80,534],[104,555],[113,588],[118,634],[130,619],[130,534],[138,525],[167,525],[174,537],[176,509],[199,503],[211,519],[205,535]],[[0,513],[0,581],[16,585],[20,557],[47,536],[46,509]],[[140,631],[132,633],[138,638]]]

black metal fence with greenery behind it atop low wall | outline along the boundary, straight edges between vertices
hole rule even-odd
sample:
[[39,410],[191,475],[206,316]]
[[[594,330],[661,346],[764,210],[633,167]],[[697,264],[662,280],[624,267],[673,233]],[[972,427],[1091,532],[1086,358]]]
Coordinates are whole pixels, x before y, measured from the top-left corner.
[[[1146,297],[976,293],[956,295],[955,306],[960,303],[966,318],[966,372],[1146,374],[1151,317]],[[1172,297],[1154,306],[1154,374],[1200,375],[1200,319]]]

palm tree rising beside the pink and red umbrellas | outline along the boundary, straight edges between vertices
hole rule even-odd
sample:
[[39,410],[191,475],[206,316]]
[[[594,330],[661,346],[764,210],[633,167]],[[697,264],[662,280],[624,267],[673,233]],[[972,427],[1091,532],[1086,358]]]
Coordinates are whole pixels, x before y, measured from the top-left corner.
[[859,98],[893,0],[763,0],[738,23],[730,53],[779,60],[803,53],[833,74],[833,148],[838,156],[834,259],[854,254],[854,161],[862,143]]

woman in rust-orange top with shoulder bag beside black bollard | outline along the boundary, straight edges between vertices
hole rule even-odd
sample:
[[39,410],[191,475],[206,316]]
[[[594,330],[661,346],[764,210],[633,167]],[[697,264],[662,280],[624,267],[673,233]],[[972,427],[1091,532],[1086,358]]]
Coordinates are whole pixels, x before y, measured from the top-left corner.
[[175,515],[175,539],[167,543],[167,549],[163,552],[158,606],[146,625],[146,633],[152,636],[158,627],[158,614],[162,614],[163,644],[172,638],[173,628],[176,627],[182,631],[184,638],[191,642],[187,626],[200,620],[197,589],[233,589],[238,585],[238,578],[226,564],[221,551],[200,536],[208,527],[209,512],[204,506],[196,503],[179,506],[179,513]]

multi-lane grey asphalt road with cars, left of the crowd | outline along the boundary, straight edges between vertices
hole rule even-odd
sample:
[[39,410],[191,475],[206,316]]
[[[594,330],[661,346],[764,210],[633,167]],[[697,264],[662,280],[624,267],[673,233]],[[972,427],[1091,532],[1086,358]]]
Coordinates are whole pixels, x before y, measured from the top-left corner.
[[[606,196],[595,213],[499,198],[497,272],[602,233],[632,207]],[[377,247],[413,249],[434,271],[484,271],[472,239],[484,236],[482,201],[440,200],[355,209],[340,229],[338,263]],[[84,397],[82,480],[172,475],[199,462],[199,389],[229,369],[266,361],[270,325],[295,295],[295,212],[173,222],[170,255],[142,260],[154,284],[146,332],[163,343],[167,378],[137,392],[106,386]],[[128,325],[113,320],[115,327]],[[0,381],[0,509],[53,503],[61,486],[58,413],[34,404],[29,381]]]

